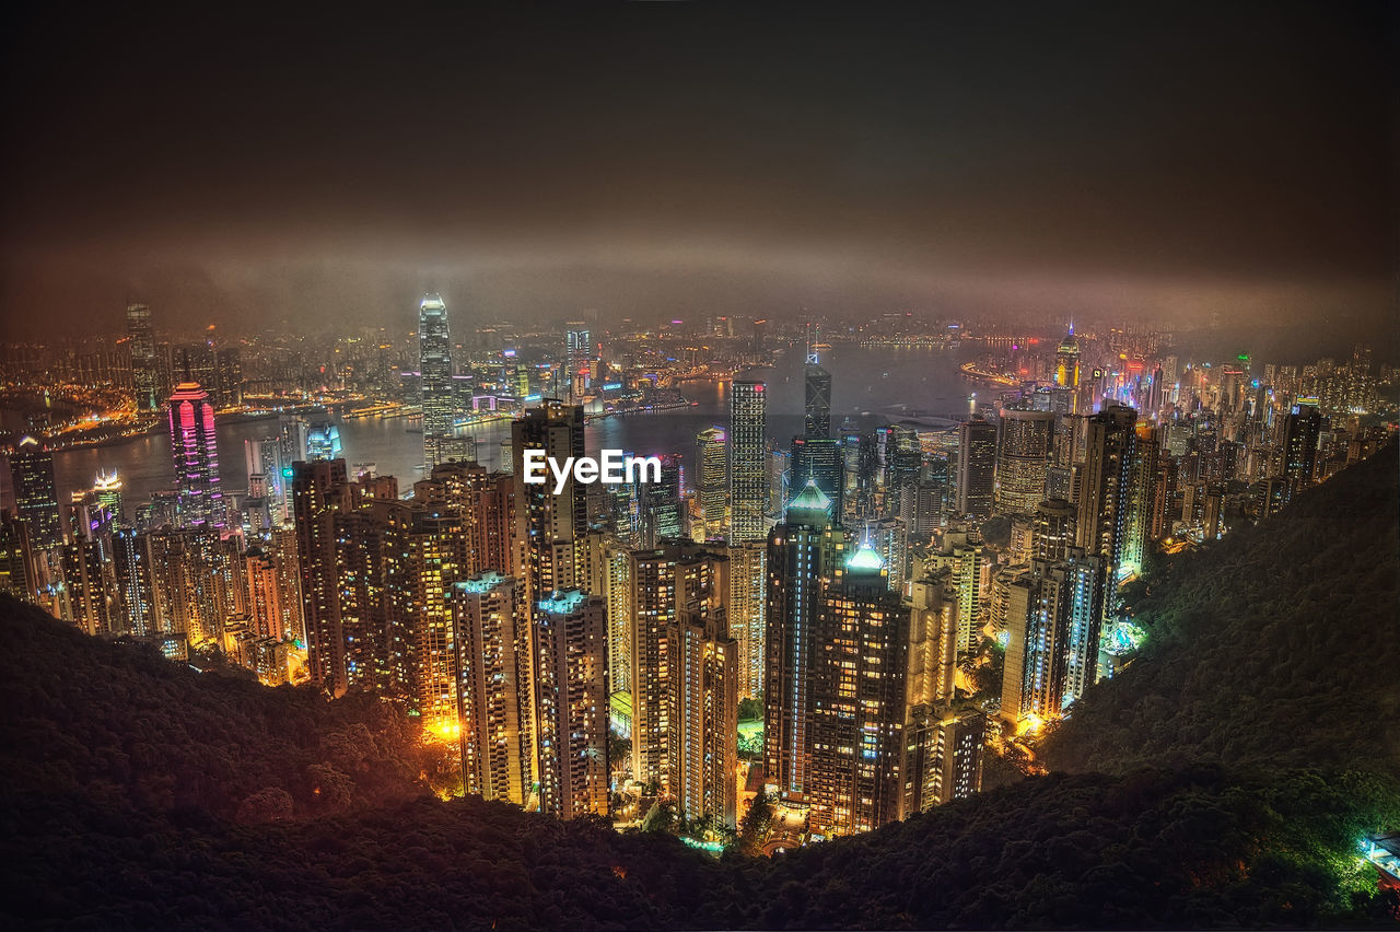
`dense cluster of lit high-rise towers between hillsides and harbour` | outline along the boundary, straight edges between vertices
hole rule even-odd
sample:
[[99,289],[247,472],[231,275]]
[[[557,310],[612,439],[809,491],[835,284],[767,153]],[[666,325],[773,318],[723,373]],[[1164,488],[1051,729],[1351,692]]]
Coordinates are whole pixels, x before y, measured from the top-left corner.
[[[133,305],[129,323],[133,374],[150,369],[133,378],[141,404],[162,382],[148,313]],[[1072,334],[1049,395],[932,431],[833,431],[832,375],[809,350],[790,445],[770,442],[764,382],[741,378],[728,421],[696,439],[693,491],[672,455],[659,481],[568,476],[557,493],[524,483],[522,460],[585,455],[587,329],[568,332],[566,397],[517,417],[498,472],[456,435],[437,295],[419,337],[426,469],[412,490],[349,469],[332,431],[287,416],[246,442],[235,514],[217,402],[189,364],[168,396],[175,488],[132,525],[120,481],[99,474],[64,529],[52,453],[18,445],[0,591],[92,634],[221,644],[270,683],[304,652],[304,677],[332,696],[384,696],[455,746],[463,791],[566,819],[608,814],[630,782],[732,827],[738,705],[756,700],[762,784],[830,837],[976,792],[990,728],[1035,728],[1114,672],[1119,585],[1156,542],[1193,508],[1222,519],[1224,493],[1182,479],[1235,442],[1208,442],[1214,411],[1197,404],[1183,437],[1182,418],[1158,417],[1180,392],[1161,378],[1145,417],[1089,399]],[[1214,386],[1222,410],[1242,385]],[[1273,451],[1267,502],[1319,479],[1334,446],[1317,404],[1292,402],[1240,411]],[[993,658],[1000,689],[974,687]],[[626,754],[610,754],[610,729]]]

